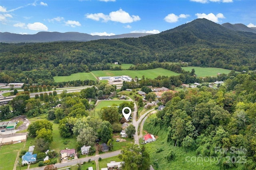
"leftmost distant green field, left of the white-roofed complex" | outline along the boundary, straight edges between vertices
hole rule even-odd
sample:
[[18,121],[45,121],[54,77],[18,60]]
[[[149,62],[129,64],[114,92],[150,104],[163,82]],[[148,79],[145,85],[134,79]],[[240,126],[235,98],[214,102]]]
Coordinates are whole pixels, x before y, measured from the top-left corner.
[[75,74],[71,74],[70,76],[54,76],[55,82],[67,82],[72,80],[94,80],[96,81],[96,78],[92,75],[90,72],[79,72]]

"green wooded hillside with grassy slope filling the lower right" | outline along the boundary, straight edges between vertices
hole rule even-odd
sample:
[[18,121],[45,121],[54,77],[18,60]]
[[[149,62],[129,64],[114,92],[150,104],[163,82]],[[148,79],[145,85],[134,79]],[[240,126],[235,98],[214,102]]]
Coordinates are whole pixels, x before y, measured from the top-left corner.
[[144,125],[159,135],[158,145],[146,144],[156,169],[176,169],[180,162],[182,169],[256,168],[256,73],[230,78],[219,89],[166,93],[165,108]]

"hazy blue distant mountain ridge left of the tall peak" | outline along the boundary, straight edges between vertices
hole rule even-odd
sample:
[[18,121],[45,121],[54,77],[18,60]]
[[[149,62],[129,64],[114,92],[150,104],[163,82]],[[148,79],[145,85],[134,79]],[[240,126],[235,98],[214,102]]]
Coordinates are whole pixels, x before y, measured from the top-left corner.
[[151,35],[152,33],[126,33],[120,35],[111,36],[100,36],[100,35],[90,35],[87,33],[79,32],[38,32],[33,35],[28,34],[16,34],[9,32],[0,32],[0,42],[2,43],[45,43],[53,41],[91,41],[97,39],[118,39],[118,38],[138,38],[146,35]]

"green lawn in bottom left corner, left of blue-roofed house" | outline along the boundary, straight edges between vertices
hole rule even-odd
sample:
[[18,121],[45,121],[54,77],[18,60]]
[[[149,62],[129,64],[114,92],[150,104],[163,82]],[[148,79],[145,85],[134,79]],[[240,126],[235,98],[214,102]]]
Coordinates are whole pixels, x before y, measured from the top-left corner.
[[0,170],[13,170],[18,152],[21,152],[23,146],[22,142],[0,147]]

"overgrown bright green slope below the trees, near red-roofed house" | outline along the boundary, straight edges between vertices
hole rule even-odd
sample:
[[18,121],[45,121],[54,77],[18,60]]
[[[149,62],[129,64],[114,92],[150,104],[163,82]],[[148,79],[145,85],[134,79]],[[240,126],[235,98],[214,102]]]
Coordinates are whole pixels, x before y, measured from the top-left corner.
[[[145,125],[144,125],[145,127]],[[183,147],[174,147],[172,143],[167,142],[168,132],[161,130],[159,126],[154,127],[154,131],[158,131],[155,142],[147,143],[145,146],[146,150],[150,154],[151,164],[158,164],[158,167],[155,165],[153,168],[155,170],[219,170],[220,166],[216,165],[217,160],[210,162],[210,158],[202,158],[196,156],[195,151],[184,151]],[[150,131],[148,131],[150,133]],[[157,150],[162,149],[162,152],[156,152]],[[168,161],[166,155],[173,150],[175,152],[175,159]],[[203,161],[200,162],[202,158]],[[205,161],[204,161],[205,160]],[[213,160],[213,159],[212,159]],[[155,163],[154,163],[155,162]]]

